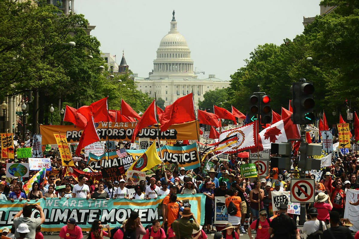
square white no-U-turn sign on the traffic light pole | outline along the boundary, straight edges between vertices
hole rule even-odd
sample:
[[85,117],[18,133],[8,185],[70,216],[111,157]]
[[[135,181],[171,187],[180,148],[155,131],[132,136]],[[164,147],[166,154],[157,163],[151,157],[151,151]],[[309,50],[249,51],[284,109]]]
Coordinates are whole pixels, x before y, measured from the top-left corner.
[[291,202],[314,202],[314,179],[292,178],[290,185]]

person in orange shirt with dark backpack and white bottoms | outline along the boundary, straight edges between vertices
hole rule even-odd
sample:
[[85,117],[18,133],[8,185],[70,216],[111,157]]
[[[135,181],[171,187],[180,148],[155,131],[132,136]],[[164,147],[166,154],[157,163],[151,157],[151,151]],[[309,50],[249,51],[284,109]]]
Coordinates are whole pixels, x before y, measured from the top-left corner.
[[228,212],[228,223],[231,223],[235,227],[235,231],[239,235],[239,226],[241,225],[241,197],[237,196],[237,189],[231,188],[228,190],[228,195],[225,199],[225,206]]

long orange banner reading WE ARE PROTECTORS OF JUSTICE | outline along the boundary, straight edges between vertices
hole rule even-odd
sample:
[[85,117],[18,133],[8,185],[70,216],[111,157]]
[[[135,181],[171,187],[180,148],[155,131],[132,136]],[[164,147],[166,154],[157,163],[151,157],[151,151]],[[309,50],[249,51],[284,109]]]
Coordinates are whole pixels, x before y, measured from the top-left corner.
[[[96,123],[97,133],[101,141],[107,140],[107,122]],[[109,140],[125,140],[129,141],[132,138],[132,132],[135,129],[136,122],[126,123],[114,123],[109,122],[108,135]],[[56,144],[56,140],[53,138],[54,132],[66,134],[67,142],[76,143],[80,141],[80,137],[83,129],[75,125],[40,125],[40,133],[42,134],[42,144]],[[169,126],[168,130],[161,132],[158,130],[157,125],[146,127],[139,133],[141,138],[150,138],[155,140],[159,131],[160,140],[197,140],[199,135],[199,124],[197,121],[191,121],[183,124],[174,124]],[[197,133],[196,133],[197,132]],[[138,140],[138,137],[136,138]]]

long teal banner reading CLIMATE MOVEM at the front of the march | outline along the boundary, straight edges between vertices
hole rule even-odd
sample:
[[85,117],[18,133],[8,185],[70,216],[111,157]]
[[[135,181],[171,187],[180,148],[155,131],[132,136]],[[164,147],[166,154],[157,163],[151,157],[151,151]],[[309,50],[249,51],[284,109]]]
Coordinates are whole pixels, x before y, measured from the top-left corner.
[[[60,231],[69,218],[74,218],[77,225],[83,231],[89,231],[95,219],[100,219],[103,224],[109,224],[111,228],[121,226],[123,220],[129,218],[132,211],[139,213],[139,218],[143,226],[151,224],[153,220],[160,220],[157,214],[157,206],[163,201],[166,195],[159,196],[157,199],[150,200],[86,200],[79,198],[47,198],[30,200],[29,204],[38,203],[44,211],[45,222],[41,224],[42,231]],[[177,195],[179,200],[189,200],[191,212],[199,224],[204,224],[205,198],[203,194]],[[25,200],[9,204],[8,201],[0,200],[0,229],[11,227],[14,215],[19,212]],[[26,201],[25,201],[26,202]],[[38,211],[33,212],[33,216],[38,216]]]

